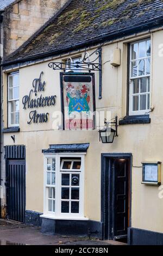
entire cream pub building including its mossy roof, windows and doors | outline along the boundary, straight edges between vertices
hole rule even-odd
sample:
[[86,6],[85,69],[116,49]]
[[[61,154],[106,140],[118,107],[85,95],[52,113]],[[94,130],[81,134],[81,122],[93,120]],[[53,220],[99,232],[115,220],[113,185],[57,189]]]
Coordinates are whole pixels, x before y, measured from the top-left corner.
[[68,1],[4,60],[7,218],[163,244],[162,8]]

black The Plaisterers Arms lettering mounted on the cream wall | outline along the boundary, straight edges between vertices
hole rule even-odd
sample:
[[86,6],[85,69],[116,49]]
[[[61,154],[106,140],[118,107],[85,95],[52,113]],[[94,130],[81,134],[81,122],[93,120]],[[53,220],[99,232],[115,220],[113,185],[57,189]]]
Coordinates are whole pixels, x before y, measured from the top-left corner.
[[22,99],[23,109],[31,109],[29,113],[29,120],[27,124],[31,123],[47,123],[49,113],[37,113],[37,108],[49,107],[55,105],[56,95],[43,96],[46,83],[42,81],[43,72],[41,72],[39,78],[33,80],[33,89],[30,90],[28,95],[25,95]]

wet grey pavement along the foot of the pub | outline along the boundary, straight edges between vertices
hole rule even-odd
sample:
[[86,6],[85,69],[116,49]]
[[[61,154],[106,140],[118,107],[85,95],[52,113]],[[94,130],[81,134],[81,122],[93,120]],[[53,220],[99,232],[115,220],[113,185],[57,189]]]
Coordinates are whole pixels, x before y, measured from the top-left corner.
[[40,233],[39,227],[0,220],[0,245],[126,245],[116,241],[89,240],[88,237],[59,236]]

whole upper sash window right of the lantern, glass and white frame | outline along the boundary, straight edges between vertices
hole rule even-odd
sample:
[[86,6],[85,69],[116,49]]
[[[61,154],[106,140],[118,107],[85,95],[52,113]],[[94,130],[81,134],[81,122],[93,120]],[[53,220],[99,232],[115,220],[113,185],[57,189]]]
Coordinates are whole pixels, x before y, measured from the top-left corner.
[[145,114],[150,108],[151,40],[130,44],[129,115]]

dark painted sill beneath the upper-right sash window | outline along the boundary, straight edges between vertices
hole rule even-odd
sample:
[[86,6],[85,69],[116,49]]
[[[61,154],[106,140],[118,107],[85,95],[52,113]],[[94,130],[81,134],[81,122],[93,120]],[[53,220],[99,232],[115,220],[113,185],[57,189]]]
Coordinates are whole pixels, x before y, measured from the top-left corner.
[[151,118],[149,115],[127,115],[119,121],[119,125],[127,124],[150,124]]

